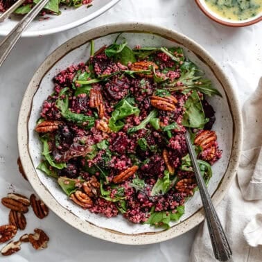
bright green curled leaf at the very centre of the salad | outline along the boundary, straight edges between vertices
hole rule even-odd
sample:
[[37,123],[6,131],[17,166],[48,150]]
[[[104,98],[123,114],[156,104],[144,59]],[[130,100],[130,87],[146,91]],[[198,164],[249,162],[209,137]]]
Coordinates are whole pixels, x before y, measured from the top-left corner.
[[112,112],[108,126],[112,131],[118,132],[125,125],[121,119],[124,119],[126,116],[130,116],[132,114],[138,115],[139,112],[140,110],[137,107],[130,105],[126,99],[123,99],[116,105],[114,111]]

